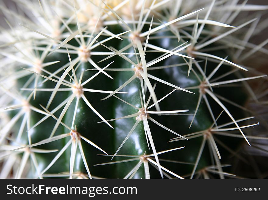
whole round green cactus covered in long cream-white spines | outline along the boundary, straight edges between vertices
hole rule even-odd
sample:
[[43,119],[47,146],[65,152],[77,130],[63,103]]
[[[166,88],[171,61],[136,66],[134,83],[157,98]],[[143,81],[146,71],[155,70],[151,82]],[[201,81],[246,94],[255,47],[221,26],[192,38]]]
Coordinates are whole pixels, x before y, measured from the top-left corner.
[[250,105],[267,104],[268,40],[250,38],[267,9],[2,3],[0,177],[265,177],[267,122]]

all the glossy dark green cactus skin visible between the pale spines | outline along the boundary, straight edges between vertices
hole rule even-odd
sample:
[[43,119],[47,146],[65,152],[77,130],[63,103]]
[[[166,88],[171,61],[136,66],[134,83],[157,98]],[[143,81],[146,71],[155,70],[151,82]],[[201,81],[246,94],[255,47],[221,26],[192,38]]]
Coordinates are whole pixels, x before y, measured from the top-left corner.
[[[116,26],[112,27],[115,31],[117,29]],[[117,32],[120,32],[121,29],[118,28]],[[160,35],[169,34],[168,32],[162,32]],[[121,40],[112,40],[114,42],[109,42],[106,45],[111,45],[114,48],[117,48],[118,50],[125,47],[130,43],[129,40],[124,39],[124,41]],[[179,42],[176,39],[168,39],[165,38],[163,40],[149,40],[151,44],[154,44],[158,47],[165,48],[172,50],[179,44],[182,44],[182,42]],[[148,49],[147,49],[148,50]],[[96,51],[107,51],[105,47],[98,47]],[[127,51],[129,53],[134,53],[133,47],[129,48]],[[146,61],[151,61],[155,58],[157,58],[162,53],[157,52],[146,52]],[[219,53],[220,57],[224,57],[222,55],[222,52]],[[50,67],[50,71],[55,71],[55,68],[60,68],[63,64],[67,63],[68,57],[66,54],[56,54],[55,57],[52,57],[52,60],[61,60],[60,64],[55,64],[53,67]],[[74,56],[73,58],[75,58]],[[128,57],[136,63],[136,56],[135,55],[128,55]],[[101,59],[105,58],[105,56],[92,56],[92,59],[97,63]],[[133,68],[133,66],[128,62],[125,61],[122,58],[119,58],[119,56],[115,56],[111,59],[108,59],[107,61],[101,62],[98,64],[101,68],[106,66],[111,61],[115,61],[114,64],[111,65],[111,68]],[[62,64],[63,63],[63,64]],[[174,65],[184,63],[183,59],[181,57],[178,57],[176,55],[172,55],[171,57],[157,63],[153,67],[156,66],[162,66],[162,65]],[[201,67],[204,69],[204,62],[200,63]],[[207,62],[207,74],[215,68],[217,64],[212,63],[210,61]],[[79,68],[76,71],[76,76],[79,77],[81,72],[93,68],[89,63],[83,63],[79,66]],[[193,66],[194,68],[194,66]],[[220,69],[217,74],[222,74],[230,70],[229,67],[224,66],[225,69]],[[202,79],[201,74],[198,72],[196,68],[194,68],[196,71],[196,74]],[[163,79],[167,82],[170,82],[176,86],[179,87],[191,87],[191,86],[198,86],[199,81],[196,78],[195,74],[193,72],[190,73],[189,77],[187,77],[188,72],[188,66],[178,66],[178,67],[172,67],[172,68],[165,68],[165,69],[158,69],[150,71],[148,70],[148,73]],[[92,75],[96,74],[97,71],[86,71],[83,74],[83,81],[90,78]],[[119,86],[121,86],[125,81],[127,81],[132,75],[134,75],[134,71],[119,71],[119,72],[109,72],[114,80],[109,79],[106,75],[100,74],[95,79],[87,83],[84,87],[90,88],[90,89],[102,89],[102,90],[111,90],[114,91]],[[216,74],[216,75],[217,75]],[[228,78],[234,78],[235,76],[227,76]],[[66,77],[67,79],[68,77]],[[41,79],[41,78],[40,78]],[[152,85],[154,84],[154,80],[150,79]],[[22,80],[23,82],[23,80]],[[46,82],[41,86],[41,88],[53,88],[55,86],[54,82]],[[21,86],[19,86],[21,87]],[[160,99],[171,90],[174,89],[170,86],[164,85],[162,83],[157,83],[155,93],[157,95],[157,98]],[[133,104],[136,107],[141,108],[141,99],[140,99],[140,91],[141,91],[141,83],[139,78],[135,78],[131,83],[129,83],[127,86],[124,87],[124,89],[120,90],[121,92],[129,92],[129,94],[116,94],[116,96],[122,98],[123,100],[129,102],[130,104]],[[195,94],[186,93],[183,91],[175,91],[170,96],[168,96],[165,100],[160,102],[160,108],[161,111],[170,111],[170,110],[182,110],[182,109],[189,109],[188,114],[194,114],[196,109],[196,104],[198,102],[199,97],[199,89],[192,89],[192,92]],[[237,92],[237,88],[216,88],[215,92],[218,94],[225,96],[228,99],[234,100],[236,102],[243,102],[245,100],[245,94],[242,90],[239,90]],[[50,94],[50,93],[49,93]],[[59,103],[61,103],[63,100],[65,100],[68,96],[72,95],[72,91],[69,92],[58,92],[55,99],[53,100],[51,107],[49,110],[51,111],[54,107],[56,107]],[[92,106],[106,119],[113,119],[113,118],[120,118],[126,115],[137,113],[138,110],[125,104],[124,102],[118,100],[115,97],[111,97],[107,100],[100,101],[100,99],[104,98],[108,94],[103,93],[92,93],[92,92],[84,92],[84,95],[86,96],[87,100],[92,104]],[[37,92],[37,98],[36,100],[31,100],[30,103],[38,108],[40,108],[39,104],[45,106],[49,99],[48,92]],[[149,91],[147,90],[146,94],[146,100],[149,96]],[[222,111],[222,108],[219,107],[213,100],[209,98],[209,101],[211,103],[211,107],[213,110],[213,114],[215,118],[220,114]],[[73,100],[71,106],[67,110],[63,122],[71,127],[72,125],[72,118],[74,114],[74,107],[76,103],[76,98]],[[150,101],[150,104],[152,104],[152,100]],[[241,111],[235,107],[232,107],[228,105],[229,108],[232,110],[232,114],[234,118],[236,116],[239,116],[241,118]],[[155,111],[155,108],[151,108],[151,111]],[[55,113],[55,116],[59,116],[62,109],[57,111]],[[31,125],[34,125],[37,121],[39,121],[44,115],[42,114],[33,114],[31,115]],[[177,132],[181,135],[186,135],[192,132],[198,132],[207,129],[210,127],[210,125],[213,123],[213,120],[210,116],[210,113],[207,109],[207,106],[204,102],[204,100],[201,101],[201,104],[199,106],[199,110],[196,114],[195,120],[192,124],[192,127],[189,129],[189,125],[191,123],[193,115],[152,115],[151,117],[158,121],[159,123],[163,124],[164,126],[170,128],[171,130]],[[99,117],[97,117],[96,114],[93,113],[93,111],[85,104],[85,102],[82,99],[79,99],[78,104],[78,110],[76,113],[76,119],[74,122],[74,125],[77,128],[77,132],[79,132],[81,135],[89,139],[90,141],[94,142],[96,145],[98,145],[100,148],[104,149],[108,154],[113,155],[118,147],[121,145],[131,128],[136,122],[136,117],[128,118],[128,119],[120,119],[117,121],[109,122],[114,129],[110,128],[105,123],[97,123],[102,121]],[[230,118],[225,116],[223,114],[223,118],[219,120],[219,122],[229,122],[231,121]],[[42,122],[41,125],[37,126],[33,130],[32,134],[32,140],[34,142],[38,142],[42,139],[48,138],[50,135],[53,127],[55,125],[55,119],[48,118],[46,121]],[[200,144],[203,139],[203,137],[198,137],[196,139],[191,139],[189,141],[183,140],[179,142],[169,142],[168,141],[174,137],[177,137],[176,135],[172,134],[171,132],[168,132],[167,130],[164,130],[163,128],[160,128],[153,122],[149,121],[150,129],[152,132],[153,141],[156,147],[157,152],[177,148],[181,146],[186,146],[184,149],[180,149],[174,152],[170,152],[167,154],[160,155],[160,159],[168,159],[168,160],[175,160],[175,161],[181,161],[181,162],[187,162],[187,163],[194,163],[196,160],[196,156],[199,152]],[[18,128],[16,128],[18,129]],[[68,133],[69,130],[64,128],[62,125],[59,125],[55,135]],[[26,140],[26,138],[22,138],[22,140]],[[45,149],[61,149],[66,142],[70,140],[70,137],[67,137],[65,139],[61,139],[59,141],[51,142],[47,145],[40,146],[40,148]],[[223,138],[223,142],[228,142],[228,139],[226,140]],[[237,142],[229,142],[229,144],[234,147],[237,145]],[[129,173],[129,171],[137,164],[138,161],[134,162],[127,162],[127,163],[120,163],[116,165],[104,165],[104,166],[93,166],[98,163],[105,163],[110,162],[110,158],[108,156],[98,156],[97,154],[103,154],[100,150],[94,148],[93,146],[89,145],[88,143],[82,141],[83,150],[86,156],[86,160],[90,169],[91,174],[99,177],[107,177],[107,178],[123,178],[126,174]],[[221,149],[223,150],[223,149]],[[59,172],[69,172],[69,163],[70,163],[70,147],[66,150],[66,152],[58,159],[58,161],[47,171],[47,173],[59,173]],[[224,151],[226,155],[228,155],[228,152]],[[144,153],[149,154],[152,153],[147,145],[143,122],[140,121],[131,136],[128,138],[128,140],[125,142],[125,144],[122,146],[122,148],[119,150],[118,155],[143,155]],[[223,153],[223,154],[224,154]],[[46,167],[50,161],[55,157],[57,153],[50,153],[45,155],[40,155],[39,162],[41,163],[41,168]],[[197,169],[201,169],[205,166],[211,165],[211,157],[208,150],[208,146],[205,146],[204,152],[201,156],[199,165]],[[223,156],[222,157],[226,157]],[[122,160],[122,158],[115,157],[112,161],[118,161]],[[184,175],[189,174],[192,172],[193,165],[189,164],[174,164],[174,163],[168,163],[164,161],[160,161],[160,163],[168,168],[169,170],[173,171],[174,173],[178,175]],[[150,169],[153,169],[150,166]],[[76,153],[76,161],[74,165],[74,171],[79,171],[86,173],[86,169],[84,167],[84,163],[81,159],[79,149],[77,147],[77,153]],[[150,170],[150,173],[153,175],[151,177],[160,177],[159,172],[155,169]],[[134,178],[144,178],[144,167],[143,165],[140,167]]]

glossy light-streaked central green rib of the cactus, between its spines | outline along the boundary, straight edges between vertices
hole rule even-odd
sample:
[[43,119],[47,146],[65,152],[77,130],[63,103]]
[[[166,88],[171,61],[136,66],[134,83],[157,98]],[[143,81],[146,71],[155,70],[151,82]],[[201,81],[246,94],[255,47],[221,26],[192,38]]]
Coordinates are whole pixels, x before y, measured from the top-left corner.
[[[131,41],[125,39],[119,45],[119,49],[125,47],[126,45],[130,44]],[[134,53],[133,47],[130,47],[126,52]],[[136,61],[135,55],[128,56],[133,62]],[[130,64],[128,61],[122,60],[120,58],[120,67],[119,68],[133,68],[134,66]],[[133,68],[134,69],[134,68]],[[120,87],[125,81],[130,79],[134,75],[134,70],[129,72],[118,72],[115,77],[115,82],[113,83],[114,89]],[[136,106],[137,108],[142,108],[142,102],[140,98],[141,92],[141,82],[139,77],[136,77],[132,82],[130,82],[122,91],[128,92],[131,91],[129,94],[123,94],[120,98],[124,99],[126,102]],[[144,104],[143,104],[144,105]],[[135,114],[139,112],[138,109],[131,107],[124,102],[115,99],[114,100],[114,117],[113,118],[120,118],[123,116]],[[114,137],[115,137],[115,149],[114,152],[117,151],[118,147],[121,143],[125,140],[128,133],[134,128],[132,134],[129,136],[125,144],[119,150],[118,154],[121,155],[140,155],[142,156],[146,152],[149,152],[149,148],[147,146],[146,136],[143,127],[143,121],[139,121],[136,118],[137,116],[127,119],[121,119],[115,121],[115,129],[114,129]],[[136,123],[138,123],[136,125]],[[134,127],[136,125],[136,127]],[[119,160],[120,158],[116,158]],[[122,160],[122,159],[121,159]],[[136,161],[137,162],[137,161]],[[117,166],[117,176],[123,178],[125,175],[129,173],[129,171],[135,167],[135,162],[130,163],[123,163]],[[134,178],[144,178],[144,167],[140,167],[139,171],[136,173]]]

